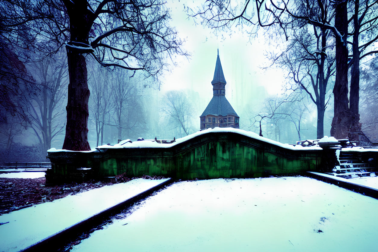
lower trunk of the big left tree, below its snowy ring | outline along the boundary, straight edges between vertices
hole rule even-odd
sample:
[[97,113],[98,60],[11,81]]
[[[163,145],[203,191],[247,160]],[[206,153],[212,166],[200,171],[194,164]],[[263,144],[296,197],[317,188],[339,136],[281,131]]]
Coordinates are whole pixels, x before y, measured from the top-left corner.
[[88,143],[88,79],[85,57],[67,47],[68,84],[67,125],[63,149],[90,150]]

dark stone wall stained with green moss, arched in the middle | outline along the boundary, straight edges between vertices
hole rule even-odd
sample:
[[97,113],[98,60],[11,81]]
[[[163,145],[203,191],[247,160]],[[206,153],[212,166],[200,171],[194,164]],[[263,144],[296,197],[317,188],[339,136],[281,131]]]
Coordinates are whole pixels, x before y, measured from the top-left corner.
[[206,133],[170,148],[49,153],[52,179],[69,179],[78,167],[92,176],[157,175],[176,179],[256,178],[318,170],[320,150],[289,150],[238,133]]

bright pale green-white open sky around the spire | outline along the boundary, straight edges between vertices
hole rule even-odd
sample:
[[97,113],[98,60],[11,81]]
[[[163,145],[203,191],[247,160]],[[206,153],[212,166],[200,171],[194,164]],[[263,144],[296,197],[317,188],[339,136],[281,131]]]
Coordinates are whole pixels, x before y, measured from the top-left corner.
[[[264,36],[258,36],[249,42],[248,34],[235,32],[232,36],[225,34],[225,39],[222,39],[217,38],[207,27],[195,26],[192,19],[187,19],[183,5],[187,6],[189,3],[190,6],[199,6],[203,2],[168,1],[172,10],[172,24],[176,26],[179,36],[186,39],[184,48],[191,52],[192,57],[189,61],[179,60],[178,66],[164,74],[162,91],[191,89],[200,93],[201,100],[207,104],[212,97],[211,80],[219,48],[227,81],[226,97],[237,113],[243,106],[250,104],[250,99],[262,101],[262,88],[265,88],[267,95],[281,93],[283,76],[286,73],[277,69],[265,71],[259,68],[269,63],[264,56],[265,51],[273,49],[267,46]],[[261,87],[258,88],[259,86]],[[256,92],[257,89],[260,92]]]

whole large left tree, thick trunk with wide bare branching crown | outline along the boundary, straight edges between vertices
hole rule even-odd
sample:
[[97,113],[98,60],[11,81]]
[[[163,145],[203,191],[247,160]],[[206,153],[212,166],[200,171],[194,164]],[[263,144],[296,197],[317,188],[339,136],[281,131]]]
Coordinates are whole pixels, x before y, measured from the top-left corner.
[[169,10],[160,0],[2,0],[0,7],[0,29],[9,40],[22,45],[45,42],[50,47],[42,46],[41,51],[48,52],[65,44],[70,76],[63,144],[67,150],[90,150],[88,54],[102,66],[145,70],[148,74],[166,68],[173,54],[186,55],[169,25]]

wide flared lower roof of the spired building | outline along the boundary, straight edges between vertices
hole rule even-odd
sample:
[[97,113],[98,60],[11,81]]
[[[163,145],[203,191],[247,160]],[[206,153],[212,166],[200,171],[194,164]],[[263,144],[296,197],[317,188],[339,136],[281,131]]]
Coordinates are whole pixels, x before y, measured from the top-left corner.
[[207,116],[208,114],[212,114],[214,116],[233,115],[239,117],[224,95],[213,95],[208,107],[205,108],[201,116]]

